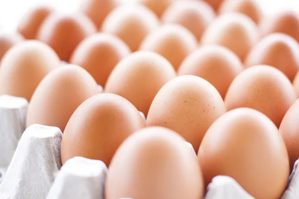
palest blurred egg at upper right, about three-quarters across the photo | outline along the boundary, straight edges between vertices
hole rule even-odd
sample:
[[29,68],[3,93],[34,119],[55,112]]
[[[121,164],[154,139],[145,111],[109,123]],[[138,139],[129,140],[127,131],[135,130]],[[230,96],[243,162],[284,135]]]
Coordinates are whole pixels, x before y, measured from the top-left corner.
[[201,43],[227,47],[243,61],[258,38],[258,28],[253,20],[243,14],[227,13],[219,16],[206,29]]

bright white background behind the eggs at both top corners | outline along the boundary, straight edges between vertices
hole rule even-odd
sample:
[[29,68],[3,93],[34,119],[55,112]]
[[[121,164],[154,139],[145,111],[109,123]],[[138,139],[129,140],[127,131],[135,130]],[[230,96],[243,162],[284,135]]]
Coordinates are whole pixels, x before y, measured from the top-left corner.
[[[48,4],[61,12],[75,12],[84,0],[0,0],[0,32],[15,31],[18,22],[32,6]],[[123,0],[130,1],[130,0]],[[299,12],[299,0],[257,0],[266,15],[284,9]]]

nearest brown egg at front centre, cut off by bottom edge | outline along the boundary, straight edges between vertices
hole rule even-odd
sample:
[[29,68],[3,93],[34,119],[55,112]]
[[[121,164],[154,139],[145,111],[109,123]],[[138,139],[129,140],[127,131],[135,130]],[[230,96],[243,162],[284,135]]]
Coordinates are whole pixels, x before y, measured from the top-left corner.
[[201,199],[199,165],[174,131],[149,127],[131,135],[117,150],[106,179],[106,199]]

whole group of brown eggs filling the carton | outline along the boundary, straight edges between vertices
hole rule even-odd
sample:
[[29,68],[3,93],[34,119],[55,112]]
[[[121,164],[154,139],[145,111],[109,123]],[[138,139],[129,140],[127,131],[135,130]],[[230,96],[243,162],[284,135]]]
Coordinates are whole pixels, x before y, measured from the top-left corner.
[[63,164],[83,156],[109,166],[107,199],[200,198],[217,175],[255,198],[279,198],[299,157],[298,16],[259,30],[253,0],[225,0],[220,13],[245,15],[218,18],[200,0],[140,1],[88,0],[87,16],[31,10],[22,36],[0,39],[3,54],[14,45],[1,60],[0,94],[30,101],[27,126],[64,132]]

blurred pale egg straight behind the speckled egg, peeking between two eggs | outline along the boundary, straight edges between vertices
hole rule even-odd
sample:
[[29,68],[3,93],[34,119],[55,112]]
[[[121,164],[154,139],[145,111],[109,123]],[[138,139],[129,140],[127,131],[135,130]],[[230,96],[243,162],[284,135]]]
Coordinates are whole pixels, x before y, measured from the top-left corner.
[[162,55],[176,70],[196,47],[196,38],[190,31],[177,24],[167,24],[149,34],[140,49]]

